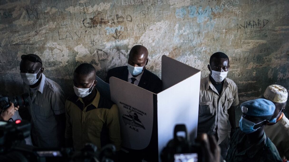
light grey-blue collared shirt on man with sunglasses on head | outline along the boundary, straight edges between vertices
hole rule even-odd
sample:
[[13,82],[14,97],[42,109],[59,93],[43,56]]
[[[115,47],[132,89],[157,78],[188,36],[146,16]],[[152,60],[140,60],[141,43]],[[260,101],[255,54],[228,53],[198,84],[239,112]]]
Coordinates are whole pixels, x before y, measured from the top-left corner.
[[[41,74],[39,86],[28,97],[27,106],[31,115],[32,136],[38,147],[60,147],[60,123],[55,115],[65,113],[62,88]],[[30,94],[29,85],[24,83],[24,92]]]

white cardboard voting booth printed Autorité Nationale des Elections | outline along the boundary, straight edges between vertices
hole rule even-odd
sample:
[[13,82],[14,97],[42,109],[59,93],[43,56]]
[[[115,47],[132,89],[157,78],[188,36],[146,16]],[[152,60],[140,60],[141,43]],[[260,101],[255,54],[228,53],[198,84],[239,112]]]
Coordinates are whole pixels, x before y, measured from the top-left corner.
[[197,136],[201,71],[162,56],[162,92],[155,94],[118,78],[110,78],[111,99],[119,108],[122,146],[146,152],[158,161],[173,138],[176,124]]

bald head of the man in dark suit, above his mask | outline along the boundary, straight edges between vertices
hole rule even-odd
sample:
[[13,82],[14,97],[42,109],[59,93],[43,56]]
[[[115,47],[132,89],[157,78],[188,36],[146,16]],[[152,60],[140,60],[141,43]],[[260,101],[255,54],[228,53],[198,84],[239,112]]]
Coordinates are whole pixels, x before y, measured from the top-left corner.
[[131,48],[127,63],[135,67],[145,67],[149,61],[147,57],[147,48],[142,45],[136,45]]

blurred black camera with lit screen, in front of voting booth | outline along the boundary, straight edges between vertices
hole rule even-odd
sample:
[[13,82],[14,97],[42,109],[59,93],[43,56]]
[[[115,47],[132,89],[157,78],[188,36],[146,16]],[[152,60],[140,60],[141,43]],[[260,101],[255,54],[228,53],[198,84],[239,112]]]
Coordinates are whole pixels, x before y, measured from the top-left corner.
[[[184,137],[177,133],[184,132]],[[170,140],[167,146],[161,152],[161,160],[167,162],[197,162],[202,161],[201,145],[199,143],[190,143],[188,133],[184,124],[176,125],[174,138]]]

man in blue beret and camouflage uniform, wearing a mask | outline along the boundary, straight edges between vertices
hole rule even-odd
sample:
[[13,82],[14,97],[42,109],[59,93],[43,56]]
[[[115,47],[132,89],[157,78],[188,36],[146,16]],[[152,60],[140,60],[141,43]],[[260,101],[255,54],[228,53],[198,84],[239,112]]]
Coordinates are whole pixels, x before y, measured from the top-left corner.
[[241,104],[240,129],[231,138],[226,161],[282,161],[275,145],[266,136],[264,126],[271,120],[275,105],[266,99]]

